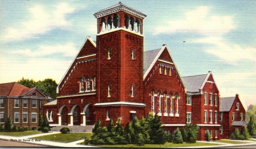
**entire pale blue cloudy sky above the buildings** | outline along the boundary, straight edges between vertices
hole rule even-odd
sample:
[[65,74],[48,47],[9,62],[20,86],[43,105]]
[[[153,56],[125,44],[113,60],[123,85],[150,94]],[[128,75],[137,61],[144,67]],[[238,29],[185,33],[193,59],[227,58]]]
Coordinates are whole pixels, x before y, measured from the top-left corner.
[[[118,2],[0,1],[0,83],[59,83],[86,36],[96,40],[93,14]],[[256,104],[255,1],[122,3],[147,15],[144,50],[167,44],[182,77],[212,71],[221,97]]]

